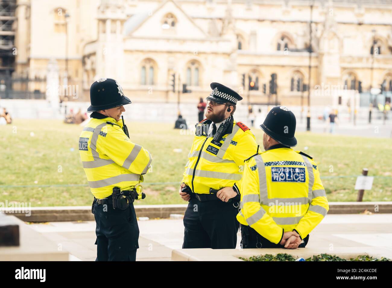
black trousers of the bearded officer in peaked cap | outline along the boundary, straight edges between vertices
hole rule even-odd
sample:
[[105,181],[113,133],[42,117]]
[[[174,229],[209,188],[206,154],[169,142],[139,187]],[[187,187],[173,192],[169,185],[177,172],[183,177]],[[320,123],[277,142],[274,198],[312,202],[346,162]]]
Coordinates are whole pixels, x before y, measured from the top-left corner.
[[184,215],[182,248],[235,249],[240,224],[237,214],[233,203],[191,198]]

